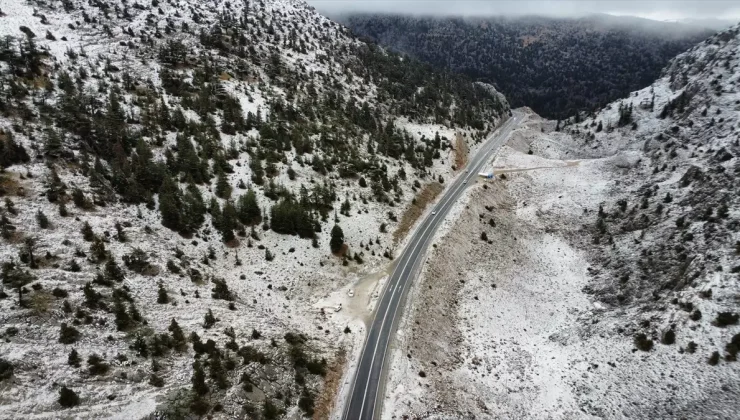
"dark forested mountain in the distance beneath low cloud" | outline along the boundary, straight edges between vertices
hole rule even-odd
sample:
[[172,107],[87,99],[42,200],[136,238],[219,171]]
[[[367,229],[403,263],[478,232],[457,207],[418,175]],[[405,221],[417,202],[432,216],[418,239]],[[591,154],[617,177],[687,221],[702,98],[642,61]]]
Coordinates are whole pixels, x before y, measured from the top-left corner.
[[659,77],[713,33],[690,25],[596,15],[578,19],[350,15],[355,33],[501,90],[550,119],[595,111]]

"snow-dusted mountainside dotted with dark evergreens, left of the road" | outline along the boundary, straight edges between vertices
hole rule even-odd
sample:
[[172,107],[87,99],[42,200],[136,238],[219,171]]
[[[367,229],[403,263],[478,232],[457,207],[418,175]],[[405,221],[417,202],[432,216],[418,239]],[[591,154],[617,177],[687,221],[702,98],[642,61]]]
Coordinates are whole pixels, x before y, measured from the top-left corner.
[[508,115],[302,1],[3,0],[0,37],[0,418],[325,414],[362,326],[322,300]]

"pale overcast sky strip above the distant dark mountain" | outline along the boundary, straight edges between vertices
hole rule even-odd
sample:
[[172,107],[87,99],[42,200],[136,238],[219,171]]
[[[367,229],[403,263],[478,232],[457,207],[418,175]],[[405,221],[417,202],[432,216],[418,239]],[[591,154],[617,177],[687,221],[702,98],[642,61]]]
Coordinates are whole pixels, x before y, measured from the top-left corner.
[[326,14],[387,12],[434,15],[549,15],[591,13],[656,20],[740,20],[740,1],[723,0],[307,0]]

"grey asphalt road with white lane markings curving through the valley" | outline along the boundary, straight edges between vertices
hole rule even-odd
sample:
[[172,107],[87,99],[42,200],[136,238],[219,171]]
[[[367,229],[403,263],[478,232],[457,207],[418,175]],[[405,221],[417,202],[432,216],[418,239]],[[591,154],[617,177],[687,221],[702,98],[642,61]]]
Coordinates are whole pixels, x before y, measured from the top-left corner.
[[383,401],[383,368],[395,325],[403,314],[404,297],[408,286],[414,280],[416,270],[424,259],[434,233],[455,201],[462,195],[467,181],[478,176],[483,165],[504,144],[511,130],[519,124],[521,119],[520,112],[512,111],[512,116],[486,140],[483,147],[468,163],[467,171],[458,176],[432,211],[419,224],[403,250],[376,308],[375,317],[355,371],[349,401],[345,404],[344,420],[374,420],[380,417]]

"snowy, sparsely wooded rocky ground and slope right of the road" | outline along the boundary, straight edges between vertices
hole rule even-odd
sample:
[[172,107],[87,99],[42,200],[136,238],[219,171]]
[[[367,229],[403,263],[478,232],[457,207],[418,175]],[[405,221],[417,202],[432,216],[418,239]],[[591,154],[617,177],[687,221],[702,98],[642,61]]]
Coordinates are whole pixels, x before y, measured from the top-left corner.
[[737,418],[738,51],[735,26],[595,115],[529,113],[425,264],[383,418]]

